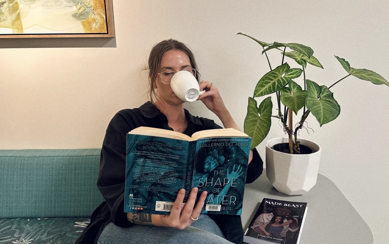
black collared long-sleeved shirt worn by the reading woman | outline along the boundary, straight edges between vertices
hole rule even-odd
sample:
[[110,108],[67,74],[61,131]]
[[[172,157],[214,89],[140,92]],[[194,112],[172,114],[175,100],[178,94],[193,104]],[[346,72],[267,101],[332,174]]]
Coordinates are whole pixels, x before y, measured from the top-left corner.
[[[195,117],[185,110],[188,127],[183,132],[191,136],[196,131],[220,129],[213,120]],[[151,102],[146,102],[137,109],[124,109],[113,116],[107,129],[100,154],[100,169],[97,187],[105,201],[92,213],[90,224],[77,239],[76,244],[96,244],[104,227],[112,222],[120,227],[134,224],[127,220],[124,212],[124,178],[126,134],[137,127],[146,126],[171,130],[166,116]],[[262,173],[263,162],[257,150],[248,165],[246,183],[255,181]],[[239,215],[208,214],[219,226],[227,240],[243,243],[242,221]]]

